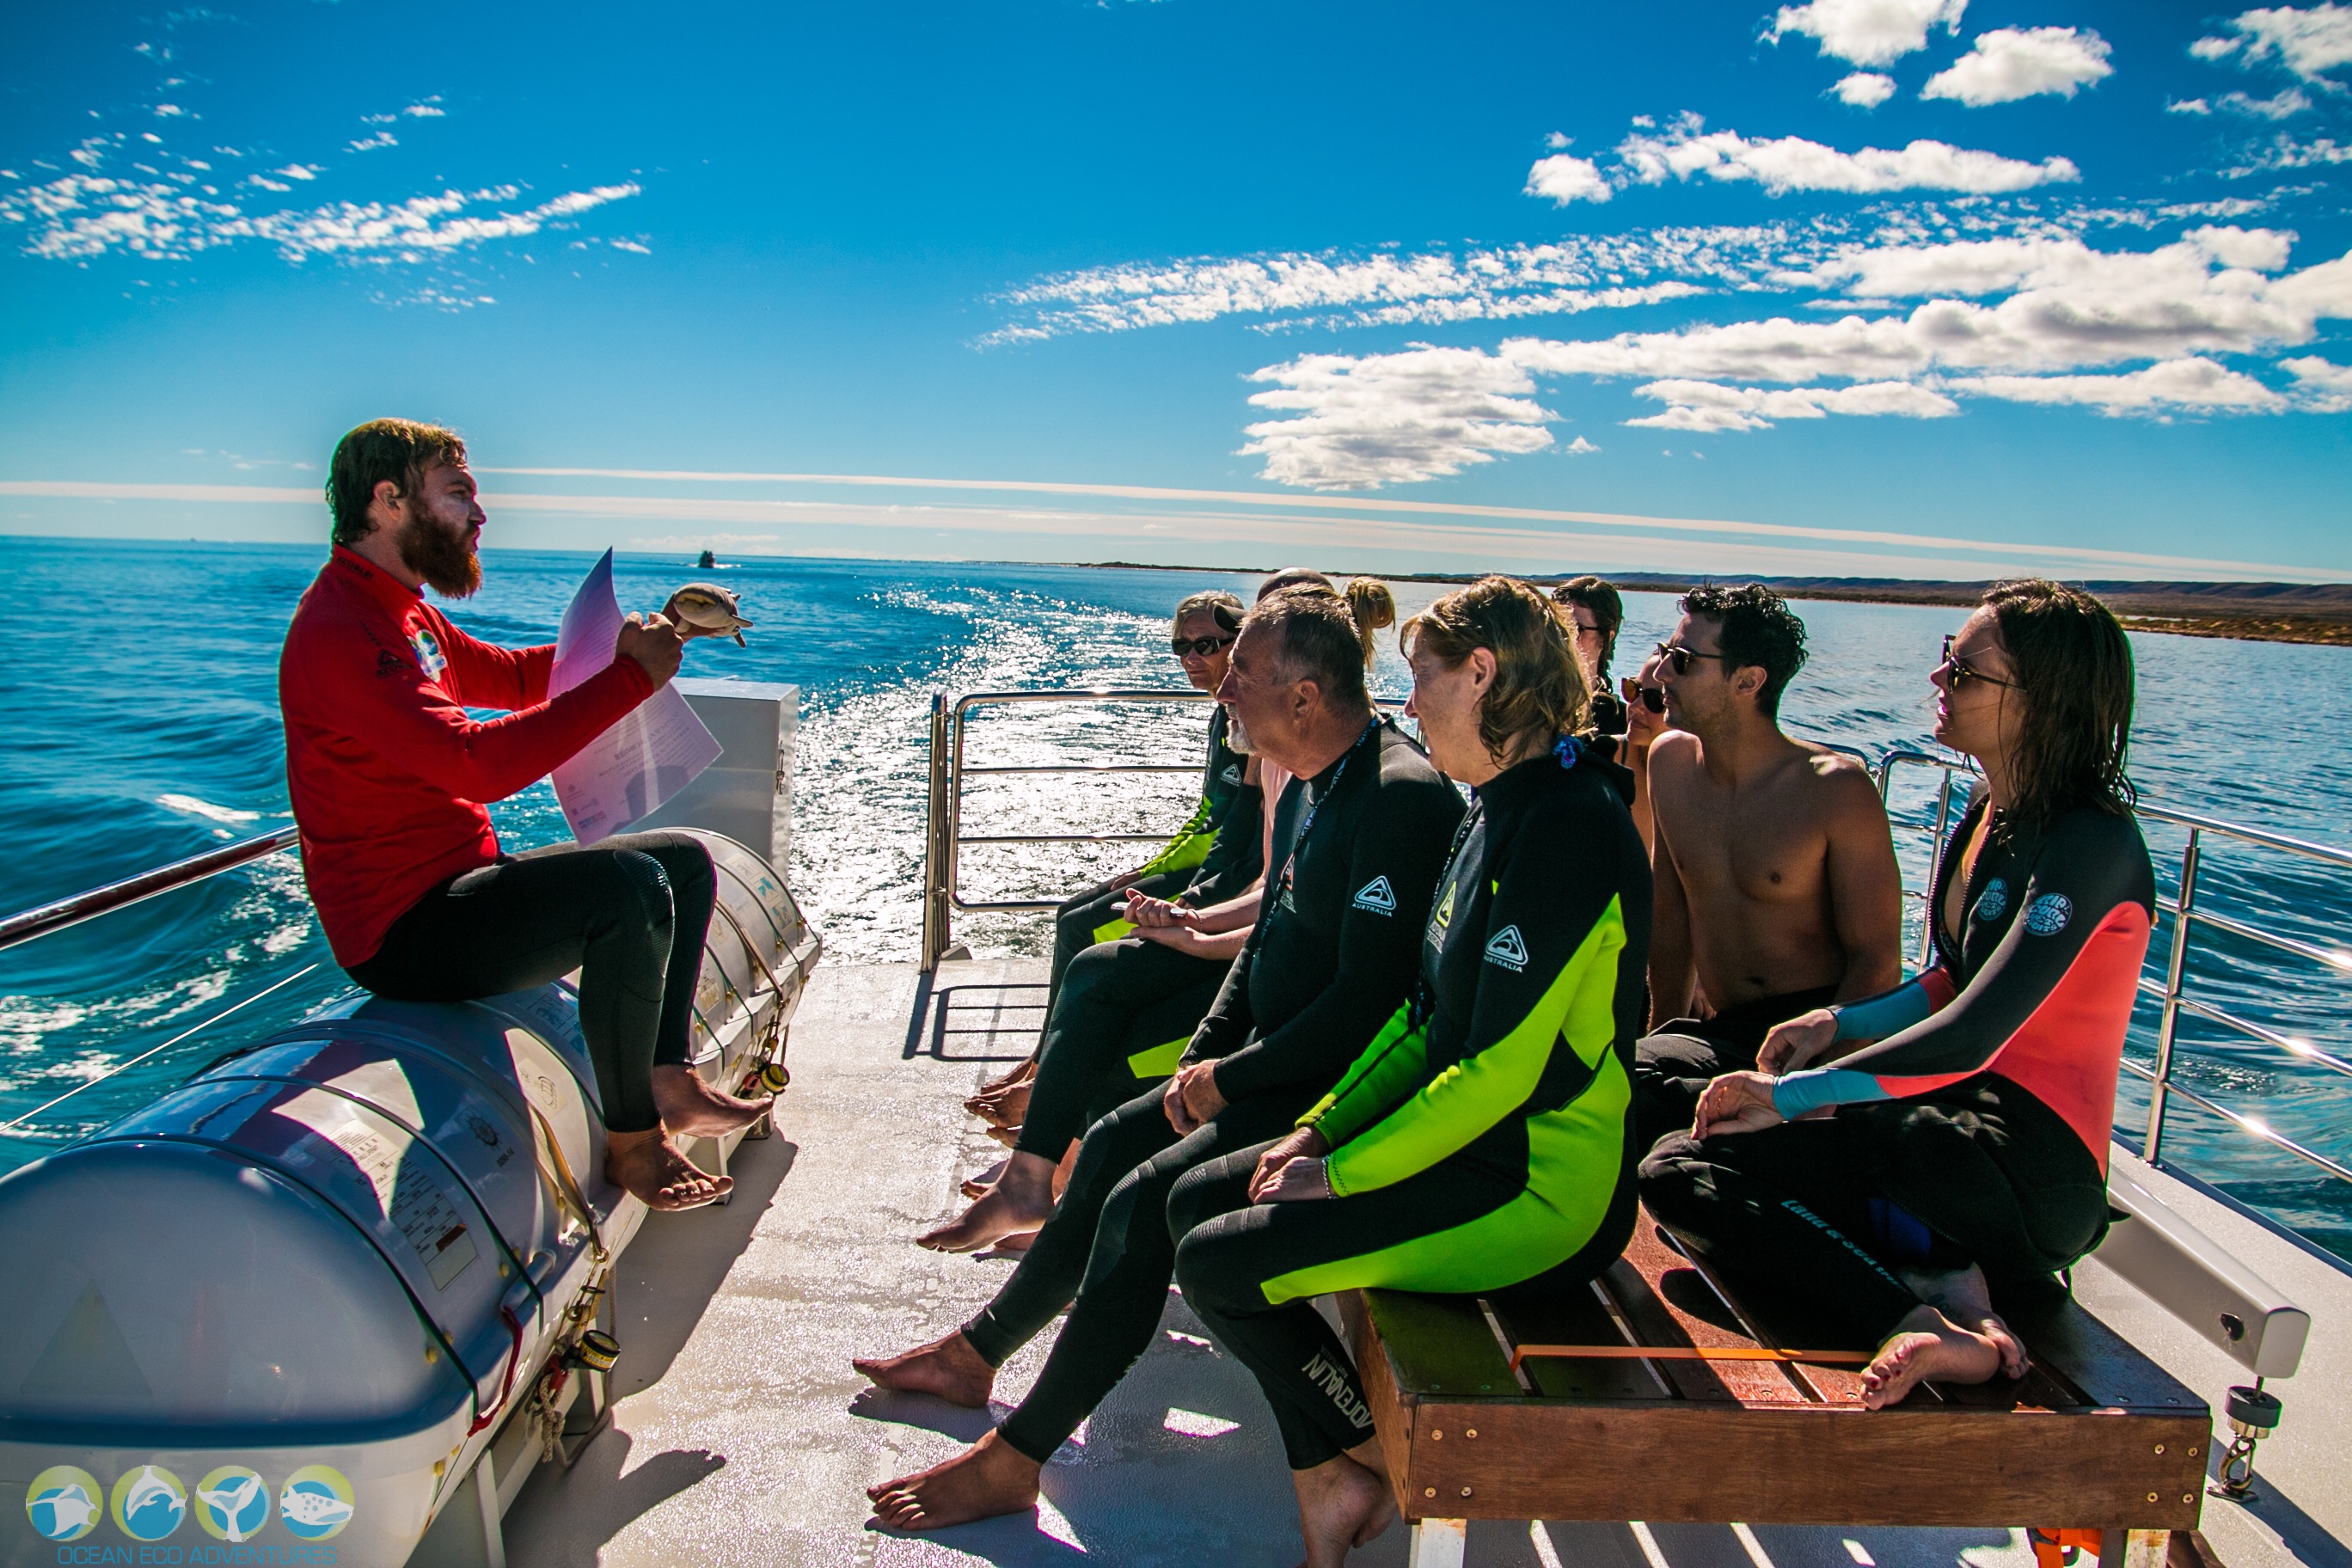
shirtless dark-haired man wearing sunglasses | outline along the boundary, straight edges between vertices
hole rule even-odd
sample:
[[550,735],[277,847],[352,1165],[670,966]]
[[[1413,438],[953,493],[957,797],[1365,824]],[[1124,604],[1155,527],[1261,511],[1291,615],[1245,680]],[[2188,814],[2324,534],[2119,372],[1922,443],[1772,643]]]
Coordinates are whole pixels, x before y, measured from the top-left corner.
[[[1656,914],[1635,1135],[1691,1126],[1780,1020],[1903,983],[1903,872],[1870,773],[1780,733],[1804,623],[1762,583],[1693,588],[1642,665],[1670,729],[1649,748]],[[1710,1018],[1691,1018],[1705,997]]]

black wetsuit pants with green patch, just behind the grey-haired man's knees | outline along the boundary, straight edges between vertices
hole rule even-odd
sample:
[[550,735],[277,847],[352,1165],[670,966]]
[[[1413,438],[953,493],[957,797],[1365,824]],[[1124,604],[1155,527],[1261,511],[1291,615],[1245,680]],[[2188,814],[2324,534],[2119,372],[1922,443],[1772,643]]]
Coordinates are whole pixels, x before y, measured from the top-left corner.
[[1080,952],[1037,1046],[1016,1150],[1061,1164],[1098,1117],[1176,1072],[1230,969],[1141,936]]

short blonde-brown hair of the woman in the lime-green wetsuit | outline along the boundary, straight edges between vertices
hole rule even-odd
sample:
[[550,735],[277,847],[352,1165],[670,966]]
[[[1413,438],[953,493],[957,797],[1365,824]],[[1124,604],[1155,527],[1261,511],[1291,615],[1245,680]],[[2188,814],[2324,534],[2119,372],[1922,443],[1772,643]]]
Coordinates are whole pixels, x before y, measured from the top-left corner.
[[1451,670],[1470,649],[1494,654],[1494,686],[1479,698],[1477,738],[1496,762],[1510,743],[1545,743],[1583,729],[1592,691],[1576,642],[1541,592],[1508,576],[1458,588],[1404,623],[1397,639],[1428,649]]

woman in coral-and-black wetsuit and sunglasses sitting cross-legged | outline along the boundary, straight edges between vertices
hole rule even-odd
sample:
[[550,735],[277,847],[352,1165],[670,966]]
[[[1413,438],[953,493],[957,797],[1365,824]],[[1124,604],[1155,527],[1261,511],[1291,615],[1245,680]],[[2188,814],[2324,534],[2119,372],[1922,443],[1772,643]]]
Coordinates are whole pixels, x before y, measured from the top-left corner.
[[[1766,1314],[1877,1345],[1865,1403],[2025,1356],[1994,1314],[2107,1232],[2107,1131],[2154,872],[2131,816],[2131,644],[2058,583],[1985,595],[1931,677],[1985,783],[1945,842],[1938,964],[1776,1027],[1642,1199]],[[1809,1065],[1823,1063],[1823,1065]]]

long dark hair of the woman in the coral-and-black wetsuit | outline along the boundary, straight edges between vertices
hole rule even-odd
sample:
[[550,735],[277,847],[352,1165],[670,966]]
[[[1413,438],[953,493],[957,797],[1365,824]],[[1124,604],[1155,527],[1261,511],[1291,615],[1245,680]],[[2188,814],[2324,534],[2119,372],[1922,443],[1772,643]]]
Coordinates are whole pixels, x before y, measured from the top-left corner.
[[2009,759],[2011,820],[2046,827],[2074,806],[2131,811],[2131,639],[2114,614],[2082,588],[2044,578],[1994,583],[1985,609],[2025,698],[2018,755]]

